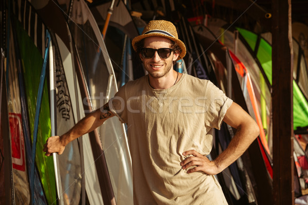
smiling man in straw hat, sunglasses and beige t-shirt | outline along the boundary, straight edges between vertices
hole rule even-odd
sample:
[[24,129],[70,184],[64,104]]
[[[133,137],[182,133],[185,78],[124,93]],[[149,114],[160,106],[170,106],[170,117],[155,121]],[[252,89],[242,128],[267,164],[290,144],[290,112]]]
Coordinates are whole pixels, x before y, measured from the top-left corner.
[[[46,155],[62,154],[68,142],[118,116],[128,127],[134,204],[227,204],[213,175],[258,136],[256,122],[210,81],[172,69],[186,54],[172,23],[149,22],[132,46],[148,75],[124,85],[66,134],[50,137]],[[222,121],[237,132],[228,148],[210,161],[206,155],[213,146],[212,131]]]

